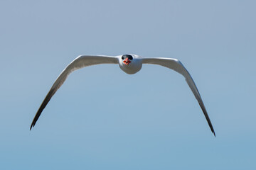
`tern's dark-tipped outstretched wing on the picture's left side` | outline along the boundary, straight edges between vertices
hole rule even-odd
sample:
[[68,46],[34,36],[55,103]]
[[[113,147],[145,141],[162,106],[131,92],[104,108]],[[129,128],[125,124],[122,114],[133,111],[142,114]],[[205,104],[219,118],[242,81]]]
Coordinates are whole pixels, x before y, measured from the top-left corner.
[[50,88],[50,91],[46,95],[46,98],[43,100],[43,103],[38,109],[35,115],[35,118],[33,118],[33,122],[31,123],[31,128],[33,128],[36,125],[36,121],[41,115],[43,109],[46,108],[46,105],[50,101],[50,98],[52,98],[55,92],[64,83],[68,75],[71,72],[75,71],[76,69],[80,69],[82,67],[87,67],[95,64],[118,64],[118,58],[111,57],[111,56],[103,56],[103,55],[81,55],[77,57],[75,60],[73,60],[73,62],[70,62],[70,64],[68,64],[68,66],[63,70],[63,72],[60,73],[58,78],[55,80],[53,86]]

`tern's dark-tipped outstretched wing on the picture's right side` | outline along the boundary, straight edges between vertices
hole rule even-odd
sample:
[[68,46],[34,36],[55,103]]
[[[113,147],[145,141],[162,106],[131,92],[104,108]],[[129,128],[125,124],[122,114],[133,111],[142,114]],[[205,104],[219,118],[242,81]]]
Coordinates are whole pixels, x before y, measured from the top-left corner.
[[159,64],[159,65],[167,67],[169,69],[174,69],[174,71],[178,72],[179,74],[182,74],[183,77],[185,77],[186,82],[187,82],[188,86],[190,87],[191,91],[193,92],[194,96],[196,97],[196,100],[198,101],[199,105],[201,106],[203,114],[206,116],[206,120],[208,122],[208,125],[210,126],[210,130],[213,132],[213,135],[215,136],[215,132],[213,130],[213,125],[210,123],[210,118],[206,111],[206,107],[203,104],[203,101],[199,94],[199,91],[196,88],[196,84],[193,81],[191,75],[188,73],[188,70],[186,70],[186,68],[183,66],[183,64],[180,61],[178,61],[176,59],[172,59],[172,58],[143,58],[142,63],[144,63],[144,64]]

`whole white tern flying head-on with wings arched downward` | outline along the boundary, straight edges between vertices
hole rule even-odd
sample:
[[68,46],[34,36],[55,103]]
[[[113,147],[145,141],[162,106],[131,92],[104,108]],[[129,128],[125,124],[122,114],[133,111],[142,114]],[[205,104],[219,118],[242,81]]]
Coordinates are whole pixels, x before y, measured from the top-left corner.
[[196,100],[198,101],[199,106],[201,107],[203,114],[206,117],[211,132],[213,132],[213,135],[215,136],[213,125],[210,122],[210,118],[206,111],[206,107],[203,104],[203,100],[199,94],[196,84],[193,81],[191,74],[189,74],[188,70],[183,66],[183,64],[179,60],[174,58],[141,57],[139,55],[134,54],[117,56],[80,55],[76,57],[75,60],[70,62],[70,64],[68,64],[68,66],[65,67],[65,69],[63,69],[63,72],[60,73],[58,78],[53,83],[53,86],[50,88],[50,91],[46,95],[46,98],[43,100],[43,103],[41,103],[40,108],[38,108],[38,111],[35,117],[33,118],[31,128],[33,128],[36,125],[36,121],[43,112],[43,109],[46,108],[46,105],[50,101],[50,98],[52,98],[56,91],[60,88],[60,86],[62,86],[62,84],[68,78],[68,75],[71,72],[75,71],[76,69],[81,69],[83,67],[88,67],[96,64],[119,64],[120,69],[122,69],[122,71],[124,71],[127,74],[135,74],[139,72],[139,70],[142,69],[142,64],[157,64],[169,69],[173,69],[174,71],[178,72],[183,77],[185,77],[188,86],[193,92],[193,95],[196,97]]

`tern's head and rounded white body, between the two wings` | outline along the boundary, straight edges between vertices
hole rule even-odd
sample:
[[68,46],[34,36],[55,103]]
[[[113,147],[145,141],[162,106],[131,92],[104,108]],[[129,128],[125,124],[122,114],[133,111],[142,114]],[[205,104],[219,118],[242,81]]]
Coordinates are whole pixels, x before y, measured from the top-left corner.
[[142,69],[142,60],[138,55],[121,55],[119,67],[127,74],[135,74]]

